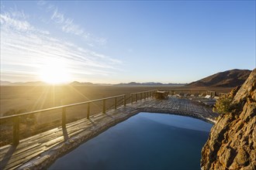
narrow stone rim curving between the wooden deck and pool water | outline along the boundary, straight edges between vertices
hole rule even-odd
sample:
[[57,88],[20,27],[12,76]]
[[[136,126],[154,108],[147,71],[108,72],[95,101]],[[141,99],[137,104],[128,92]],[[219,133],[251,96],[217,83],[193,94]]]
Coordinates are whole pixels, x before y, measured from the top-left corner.
[[149,113],[161,113],[161,114],[176,114],[182,115],[186,117],[194,117],[202,121],[206,121],[211,124],[215,124],[216,121],[213,117],[205,117],[202,114],[195,113],[192,111],[185,110],[171,110],[171,109],[162,109],[162,108],[154,108],[154,107],[140,107],[136,110],[130,111],[129,114],[123,114],[119,117],[112,119],[112,121],[106,122],[99,126],[98,128],[93,129],[92,131],[82,131],[80,134],[75,135],[67,139],[67,141],[62,142],[59,145],[50,148],[47,151],[44,151],[37,158],[33,158],[29,162],[26,162],[24,165],[21,165],[18,169],[45,169],[49,168],[57,158],[67,154],[68,152],[74,150],[74,148],[78,148],[79,145],[85,143],[86,141],[94,138],[95,136],[101,134],[103,131],[119,124],[120,122],[125,121],[126,119],[132,117],[135,114],[140,112],[149,112]]

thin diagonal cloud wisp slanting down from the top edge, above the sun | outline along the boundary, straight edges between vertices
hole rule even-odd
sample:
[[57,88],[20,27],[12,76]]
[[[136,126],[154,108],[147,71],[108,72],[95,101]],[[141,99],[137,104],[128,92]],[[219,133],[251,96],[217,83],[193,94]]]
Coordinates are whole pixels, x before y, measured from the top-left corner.
[[63,12],[60,12],[59,8],[56,5],[50,4],[50,2],[40,1],[37,3],[41,7],[44,7],[47,12],[50,12],[50,19],[65,33],[73,34],[75,36],[80,36],[81,38],[88,41],[89,46],[105,45],[107,42],[106,38],[94,36],[92,33],[85,32],[81,26],[74,22],[74,19],[71,19],[64,15]]

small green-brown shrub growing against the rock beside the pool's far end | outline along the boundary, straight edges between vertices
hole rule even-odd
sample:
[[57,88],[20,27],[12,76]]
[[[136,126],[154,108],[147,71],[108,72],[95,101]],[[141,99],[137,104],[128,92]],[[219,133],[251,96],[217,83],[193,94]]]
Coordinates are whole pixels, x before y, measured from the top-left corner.
[[230,112],[230,104],[233,97],[222,97],[216,100],[216,104],[213,107],[213,111],[219,114],[227,114]]

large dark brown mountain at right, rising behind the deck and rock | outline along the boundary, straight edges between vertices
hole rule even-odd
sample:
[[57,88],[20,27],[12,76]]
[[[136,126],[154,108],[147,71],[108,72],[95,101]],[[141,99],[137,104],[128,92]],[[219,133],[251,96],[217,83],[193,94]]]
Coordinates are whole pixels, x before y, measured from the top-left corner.
[[190,87],[237,87],[247,80],[251,70],[227,70],[189,83]]

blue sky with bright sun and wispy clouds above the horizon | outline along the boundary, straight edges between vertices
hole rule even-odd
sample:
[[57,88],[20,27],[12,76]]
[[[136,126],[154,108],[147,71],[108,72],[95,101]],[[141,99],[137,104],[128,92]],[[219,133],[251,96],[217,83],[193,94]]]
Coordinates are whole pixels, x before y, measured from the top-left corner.
[[190,83],[253,70],[255,1],[1,1],[1,80]]

